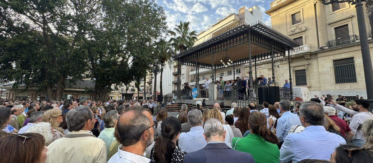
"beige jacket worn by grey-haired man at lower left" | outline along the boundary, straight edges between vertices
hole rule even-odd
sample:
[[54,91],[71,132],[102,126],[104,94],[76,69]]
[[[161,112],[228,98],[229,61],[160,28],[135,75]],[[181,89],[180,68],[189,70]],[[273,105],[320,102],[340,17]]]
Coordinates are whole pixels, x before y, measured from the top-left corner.
[[[71,134],[85,137],[69,138]],[[106,163],[106,144],[88,131],[72,131],[53,141],[47,155],[47,163]]]

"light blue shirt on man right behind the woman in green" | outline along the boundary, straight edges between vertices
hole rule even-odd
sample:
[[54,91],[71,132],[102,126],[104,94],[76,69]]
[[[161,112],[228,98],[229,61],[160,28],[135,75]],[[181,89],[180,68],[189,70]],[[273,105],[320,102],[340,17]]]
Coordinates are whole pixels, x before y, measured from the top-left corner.
[[290,111],[283,113],[277,120],[276,136],[279,141],[283,141],[293,125],[302,125],[299,116],[292,114]]

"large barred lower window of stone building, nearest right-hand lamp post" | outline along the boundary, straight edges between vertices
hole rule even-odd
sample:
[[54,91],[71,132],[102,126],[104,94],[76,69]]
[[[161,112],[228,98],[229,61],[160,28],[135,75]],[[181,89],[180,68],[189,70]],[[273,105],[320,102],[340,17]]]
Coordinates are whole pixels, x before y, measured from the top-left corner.
[[334,60],[335,83],[357,83],[354,57]]

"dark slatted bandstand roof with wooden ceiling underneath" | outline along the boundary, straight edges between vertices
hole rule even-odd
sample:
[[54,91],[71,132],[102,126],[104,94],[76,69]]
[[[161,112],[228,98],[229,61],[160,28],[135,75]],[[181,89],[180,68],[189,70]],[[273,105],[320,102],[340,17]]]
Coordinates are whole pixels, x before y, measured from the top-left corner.
[[[250,35],[251,61],[271,58],[271,48],[276,58],[285,56],[287,49],[299,46],[298,42],[263,23],[259,22],[254,25],[242,23],[175,55],[173,58],[180,60],[183,65],[195,67],[198,56],[198,67],[212,69],[214,66],[215,70],[249,63],[248,35]],[[229,55],[233,61],[228,67],[220,62],[225,54]]]

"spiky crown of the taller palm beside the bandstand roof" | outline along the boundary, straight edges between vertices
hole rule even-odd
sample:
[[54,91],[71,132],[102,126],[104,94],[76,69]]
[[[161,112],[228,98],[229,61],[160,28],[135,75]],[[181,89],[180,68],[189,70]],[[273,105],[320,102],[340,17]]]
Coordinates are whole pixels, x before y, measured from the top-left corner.
[[189,28],[190,22],[181,22],[179,25],[175,25],[173,28],[175,31],[169,31],[171,35],[170,43],[175,49],[175,52],[182,52],[188,48],[191,48],[194,45],[194,41],[197,40],[197,32],[191,31]]

